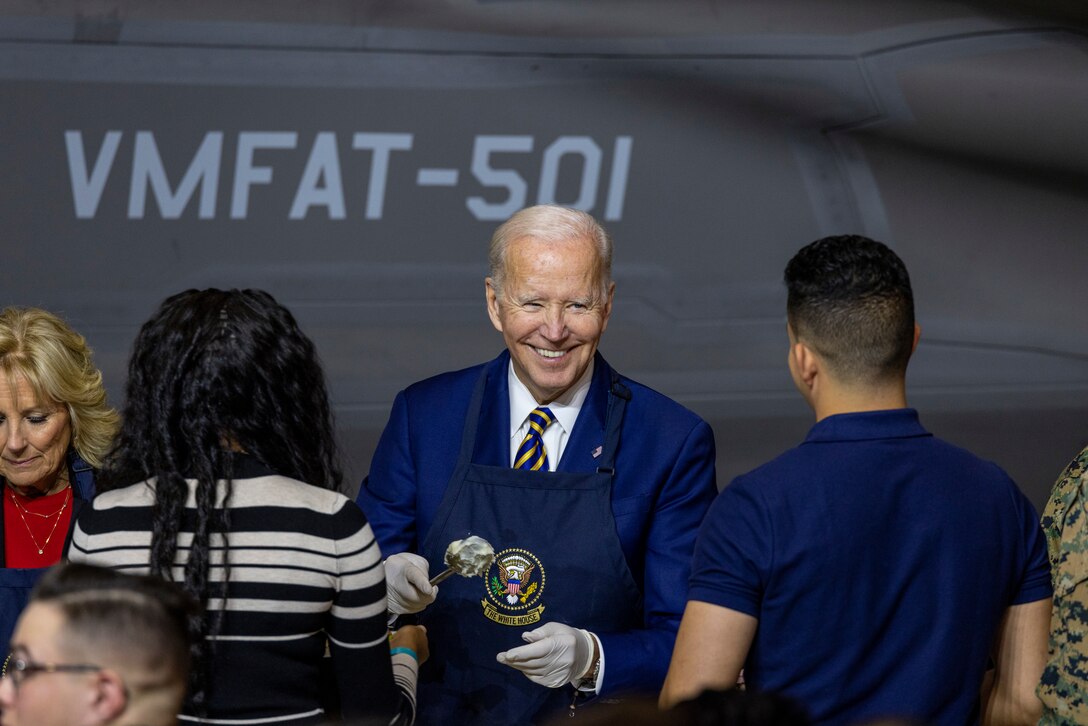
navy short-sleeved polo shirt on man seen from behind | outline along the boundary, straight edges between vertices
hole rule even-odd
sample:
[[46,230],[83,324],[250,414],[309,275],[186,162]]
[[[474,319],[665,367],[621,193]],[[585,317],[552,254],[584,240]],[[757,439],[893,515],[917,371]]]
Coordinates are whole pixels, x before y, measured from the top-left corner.
[[817,723],[962,725],[978,721],[1005,608],[1050,594],[1030,502],[904,408],[830,416],[733,480],[700,530],[688,599],[756,617],[750,688]]

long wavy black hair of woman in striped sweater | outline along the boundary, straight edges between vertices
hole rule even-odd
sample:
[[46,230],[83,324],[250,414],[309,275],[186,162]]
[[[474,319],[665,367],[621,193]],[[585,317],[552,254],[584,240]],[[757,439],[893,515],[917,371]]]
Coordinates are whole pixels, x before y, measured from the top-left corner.
[[[193,532],[182,587],[207,608],[230,580],[232,452],[279,475],[339,491],[332,411],[313,343],[259,290],[189,290],[166,298],[140,329],[128,364],[121,433],[102,472],[108,491],[154,478],[151,574],[173,580],[177,534]],[[196,480],[196,512],[186,512]],[[217,480],[225,491],[217,506]],[[213,534],[223,579],[212,582]],[[205,711],[208,636],[222,612],[193,618],[189,709]]]

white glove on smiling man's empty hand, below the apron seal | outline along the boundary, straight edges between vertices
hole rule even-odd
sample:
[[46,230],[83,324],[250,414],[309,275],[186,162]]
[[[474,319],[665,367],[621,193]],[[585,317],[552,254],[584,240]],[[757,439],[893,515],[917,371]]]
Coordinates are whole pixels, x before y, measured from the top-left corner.
[[521,633],[528,645],[499,653],[495,660],[517,668],[529,680],[559,688],[581,678],[593,665],[593,636],[562,623],[545,623]]

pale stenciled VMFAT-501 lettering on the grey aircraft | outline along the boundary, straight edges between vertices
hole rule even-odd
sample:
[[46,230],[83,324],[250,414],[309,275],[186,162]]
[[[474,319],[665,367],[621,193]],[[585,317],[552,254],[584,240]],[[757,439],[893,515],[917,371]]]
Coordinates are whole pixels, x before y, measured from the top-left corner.
[[[132,173],[128,179],[116,179],[129,171],[126,156],[122,156],[125,161],[121,164],[125,169],[113,170],[122,143],[128,138],[133,139]],[[206,131],[195,150],[193,138],[191,132],[186,132],[185,140],[180,143],[165,137],[162,131],[114,130],[104,132],[99,144],[97,134],[65,131],[76,218],[98,216],[113,179],[110,188],[114,193],[127,184],[127,218],[132,220],[154,216],[156,208],[163,220],[176,220],[196,207],[189,213],[195,212],[201,220],[215,219],[223,213],[221,209],[228,208],[232,220],[245,220],[252,213],[262,219],[286,217],[294,221],[314,216],[334,221],[348,217],[381,221],[387,213],[391,174],[395,173],[392,179],[396,180],[396,189],[403,193],[408,187],[415,193],[409,199],[390,199],[397,216],[412,214],[413,205],[455,214],[455,207],[463,205],[460,209],[467,209],[474,219],[493,222],[509,218],[527,204],[560,204],[591,213],[603,212],[605,220],[617,221],[623,217],[633,147],[631,136],[601,139],[565,135],[537,150],[537,139],[531,135],[481,134],[472,137],[470,173],[466,174],[456,165],[429,165],[428,160],[415,158],[422,156],[419,151],[394,156],[413,150],[416,138],[409,133],[354,132],[348,150],[347,140],[332,131],[313,132],[312,145],[304,140],[301,147],[299,132],[242,131],[234,145],[232,183],[230,133]],[[191,158],[187,156],[190,151]],[[298,175],[296,170],[300,168]],[[360,183],[356,181],[360,172],[366,179],[366,193],[350,186]],[[416,183],[409,186],[412,179]],[[534,182],[539,182],[535,188]],[[279,188],[255,192],[255,187],[273,183]],[[468,189],[463,188],[466,183]],[[220,204],[221,187],[230,189],[228,205],[225,194]],[[285,202],[279,200],[286,199],[290,188],[294,195],[285,208]],[[460,196],[455,196],[458,188],[462,189]],[[251,209],[250,197],[255,194],[259,204]],[[115,198],[114,194],[111,199]],[[108,207],[112,209],[113,205]],[[113,213],[118,211],[113,209]]]

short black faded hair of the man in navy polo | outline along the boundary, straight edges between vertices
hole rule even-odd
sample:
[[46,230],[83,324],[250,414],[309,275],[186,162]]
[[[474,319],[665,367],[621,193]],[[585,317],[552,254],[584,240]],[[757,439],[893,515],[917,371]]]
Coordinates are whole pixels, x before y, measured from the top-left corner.
[[798,340],[848,383],[906,373],[914,347],[914,295],[895,253],[861,235],[824,237],[786,266],[787,311]]

